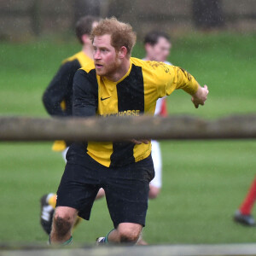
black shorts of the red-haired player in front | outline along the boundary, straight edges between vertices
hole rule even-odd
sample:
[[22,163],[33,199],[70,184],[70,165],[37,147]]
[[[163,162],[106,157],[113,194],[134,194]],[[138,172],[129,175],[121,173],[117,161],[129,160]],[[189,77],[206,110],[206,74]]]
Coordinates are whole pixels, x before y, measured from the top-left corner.
[[108,211],[116,228],[120,223],[145,225],[149,182],[154,178],[151,155],[121,167],[102,166],[85,153],[82,144],[67,151],[67,165],[57,191],[56,207],[73,207],[89,220],[99,189],[104,189]]

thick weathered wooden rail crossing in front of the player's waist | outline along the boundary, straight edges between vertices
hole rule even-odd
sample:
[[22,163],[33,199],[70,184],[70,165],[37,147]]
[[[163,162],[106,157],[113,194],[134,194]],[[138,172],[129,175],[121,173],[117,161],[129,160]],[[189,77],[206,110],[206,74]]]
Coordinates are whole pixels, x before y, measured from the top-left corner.
[[186,116],[168,118],[42,119],[0,117],[0,141],[123,141],[154,139],[256,138],[256,115],[204,120]]

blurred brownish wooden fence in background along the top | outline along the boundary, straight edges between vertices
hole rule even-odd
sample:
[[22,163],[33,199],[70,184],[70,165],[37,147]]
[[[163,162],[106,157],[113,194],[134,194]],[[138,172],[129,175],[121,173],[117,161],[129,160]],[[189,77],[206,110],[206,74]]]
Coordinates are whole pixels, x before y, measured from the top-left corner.
[[[130,22],[138,35],[161,29],[173,33],[195,29],[193,3],[201,0],[26,0],[0,1],[0,38],[73,31],[81,15],[115,15]],[[202,1],[201,1],[202,2]],[[256,31],[256,1],[218,0],[224,27]],[[199,14],[204,12],[199,10]],[[211,13],[210,13],[211,14]],[[198,16],[198,15],[196,15]],[[207,15],[210,17],[212,15]],[[202,17],[203,18],[203,17]]]

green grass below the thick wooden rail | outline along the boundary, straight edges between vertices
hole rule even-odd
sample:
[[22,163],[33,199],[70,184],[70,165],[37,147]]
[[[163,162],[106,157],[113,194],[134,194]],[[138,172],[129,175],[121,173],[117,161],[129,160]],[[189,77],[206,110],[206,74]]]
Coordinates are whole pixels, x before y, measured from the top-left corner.
[[[255,230],[231,220],[256,166],[256,143],[164,142],[163,189],[149,201],[144,237],[150,243],[253,242]],[[46,241],[39,201],[55,191],[64,162],[49,143],[1,144],[1,241]],[[105,199],[96,201],[90,222],[74,241],[93,242],[112,229]]]

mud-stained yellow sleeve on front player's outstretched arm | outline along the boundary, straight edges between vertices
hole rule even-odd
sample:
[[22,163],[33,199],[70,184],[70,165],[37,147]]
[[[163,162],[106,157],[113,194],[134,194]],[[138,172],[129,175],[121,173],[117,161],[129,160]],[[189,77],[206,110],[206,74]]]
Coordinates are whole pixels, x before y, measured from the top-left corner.
[[181,67],[170,66],[162,62],[157,62],[156,84],[159,97],[170,95],[173,90],[183,89],[190,95],[195,94],[199,84],[195,78]]

